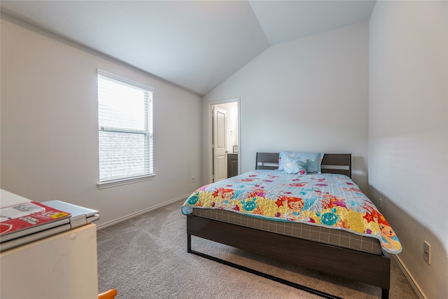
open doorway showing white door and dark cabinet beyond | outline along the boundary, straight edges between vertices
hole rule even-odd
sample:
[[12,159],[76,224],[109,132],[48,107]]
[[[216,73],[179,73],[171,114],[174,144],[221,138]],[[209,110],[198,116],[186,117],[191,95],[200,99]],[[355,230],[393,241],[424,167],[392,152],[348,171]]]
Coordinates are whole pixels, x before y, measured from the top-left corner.
[[209,183],[239,174],[239,99],[209,103]]

